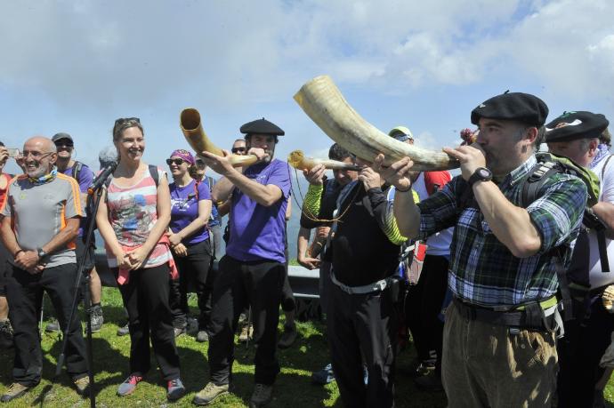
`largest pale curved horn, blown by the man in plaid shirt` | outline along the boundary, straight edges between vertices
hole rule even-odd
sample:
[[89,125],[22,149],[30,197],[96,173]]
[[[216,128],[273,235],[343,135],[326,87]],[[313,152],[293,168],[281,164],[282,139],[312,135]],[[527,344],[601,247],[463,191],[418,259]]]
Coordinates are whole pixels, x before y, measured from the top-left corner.
[[414,161],[413,170],[428,172],[459,166],[443,152],[417,148],[395,140],[360,117],[336,87],[330,76],[316,76],[296,92],[295,100],[311,120],[342,148],[368,162],[379,153],[390,165],[404,156]]

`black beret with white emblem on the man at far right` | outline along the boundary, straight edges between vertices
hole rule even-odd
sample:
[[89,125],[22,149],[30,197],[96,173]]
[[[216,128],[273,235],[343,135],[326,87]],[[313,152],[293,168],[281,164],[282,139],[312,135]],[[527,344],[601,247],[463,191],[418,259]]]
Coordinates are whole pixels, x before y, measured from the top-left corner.
[[[610,122],[602,114],[578,110],[564,112],[545,125],[545,141],[564,141],[598,138]],[[560,127],[556,127],[560,126]]]

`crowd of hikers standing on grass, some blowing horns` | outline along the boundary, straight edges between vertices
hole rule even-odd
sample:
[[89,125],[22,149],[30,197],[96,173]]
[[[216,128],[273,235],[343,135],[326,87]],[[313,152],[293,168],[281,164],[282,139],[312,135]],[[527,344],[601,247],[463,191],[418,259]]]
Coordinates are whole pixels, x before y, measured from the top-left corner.
[[[410,333],[416,358],[398,368],[416,387],[444,391],[448,406],[602,406],[611,374],[602,356],[614,330],[609,122],[588,111],[546,124],[547,116],[545,102],[527,93],[481,103],[471,112],[477,130],[444,148],[460,166],[456,177],[416,171],[411,157],[356,157],[336,143],[329,158],[353,167],[332,179],[322,164],[303,170],[309,188],[297,260],[319,268],[331,361],[314,382],[336,381],[345,406],[394,406],[395,361]],[[242,315],[245,338],[256,345],[250,406],[271,402],[276,350],[297,333],[288,280],[291,173],[274,156],[284,135],[278,125],[263,118],[240,132],[245,137],[222,156],[175,149],[166,171],[144,161],[141,121],[117,119],[113,147],[100,156],[101,169],[115,162],[107,180],[72,158],[68,133],[30,138],[13,154],[23,173],[0,171],[0,339],[14,349],[2,402],[41,380],[44,292],[68,334],[66,370],[77,392],[88,392],[85,341],[71,308],[80,262],[89,324],[100,330],[101,279],[85,234],[94,221],[128,316],[129,375],[117,395],[133,393],[151,353],[168,400],[186,394],[175,338],[189,326],[193,291],[196,340],[209,343],[210,373],[193,404],[232,391]],[[414,144],[406,126],[388,135]],[[255,163],[235,167],[231,155],[254,155]],[[0,147],[2,167],[9,156]],[[221,178],[206,176],[207,168]],[[95,213],[93,184],[101,186]]]

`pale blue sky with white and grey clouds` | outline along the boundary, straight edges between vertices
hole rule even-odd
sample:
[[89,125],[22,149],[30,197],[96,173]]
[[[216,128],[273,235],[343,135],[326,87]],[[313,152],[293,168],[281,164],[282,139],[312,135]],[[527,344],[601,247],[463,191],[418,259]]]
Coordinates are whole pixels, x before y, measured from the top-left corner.
[[[408,126],[439,149],[472,127],[498,93],[614,117],[614,2],[45,1],[0,3],[0,140],[68,132],[98,169],[117,117],[137,116],[145,161],[188,148],[183,108],[230,148],[241,124],[266,117],[286,131],[276,156],[326,156],[332,140],[293,100],[331,76],[383,132]],[[6,170],[16,171],[14,163]]]

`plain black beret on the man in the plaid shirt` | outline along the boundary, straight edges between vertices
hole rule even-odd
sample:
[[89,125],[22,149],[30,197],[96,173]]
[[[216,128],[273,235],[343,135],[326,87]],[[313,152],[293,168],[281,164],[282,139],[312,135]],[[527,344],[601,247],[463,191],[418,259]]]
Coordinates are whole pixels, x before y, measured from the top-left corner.
[[478,124],[481,117],[505,119],[532,124],[545,123],[548,107],[537,96],[522,92],[506,92],[480,104],[471,111],[471,123]]

